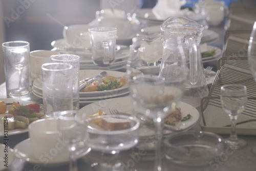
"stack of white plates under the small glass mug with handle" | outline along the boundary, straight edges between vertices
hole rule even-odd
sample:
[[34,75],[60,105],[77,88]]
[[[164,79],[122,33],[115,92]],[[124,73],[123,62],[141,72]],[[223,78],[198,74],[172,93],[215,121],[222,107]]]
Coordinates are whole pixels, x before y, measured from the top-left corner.
[[[61,54],[75,54],[80,56],[80,70],[98,70],[98,66],[94,65],[92,60],[92,52],[90,49],[74,49],[66,45],[65,39],[58,39],[52,42],[53,51]],[[128,46],[116,46],[116,60],[109,70],[117,71],[126,68],[127,58],[130,55]]]

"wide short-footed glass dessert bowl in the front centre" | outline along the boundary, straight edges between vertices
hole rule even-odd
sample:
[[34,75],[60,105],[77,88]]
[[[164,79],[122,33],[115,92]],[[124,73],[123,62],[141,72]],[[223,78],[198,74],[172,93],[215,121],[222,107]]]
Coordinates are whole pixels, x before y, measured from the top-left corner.
[[128,115],[100,115],[86,119],[90,147],[101,153],[96,170],[123,170],[120,151],[132,148],[139,139],[139,120]]

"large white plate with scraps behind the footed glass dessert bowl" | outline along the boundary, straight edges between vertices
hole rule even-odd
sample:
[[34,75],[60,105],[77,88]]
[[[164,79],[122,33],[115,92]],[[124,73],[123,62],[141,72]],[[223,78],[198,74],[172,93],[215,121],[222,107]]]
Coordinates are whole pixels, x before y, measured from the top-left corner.
[[[182,129],[189,129],[191,126],[193,126],[198,120],[199,120],[199,112],[196,108],[191,106],[190,104],[184,103],[184,102],[179,102],[177,104],[177,107],[181,108],[181,115],[187,116],[190,114],[192,118],[189,120],[183,121],[183,122],[178,122],[177,126]],[[105,100],[100,100],[96,101],[94,103],[88,104],[81,108],[79,111],[84,112],[87,115],[93,115],[94,113],[97,113],[100,109],[102,109],[103,112],[106,114],[110,114],[110,110],[117,110],[118,112],[126,113],[126,114],[131,114],[132,115],[132,106],[131,106],[131,97],[126,96],[126,97],[118,97],[118,98],[113,98],[113,99],[105,99]],[[154,135],[154,131],[152,130],[140,130],[143,131],[143,137],[144,136],[151,136]],[[142,136],[142,133],[141,133]]]

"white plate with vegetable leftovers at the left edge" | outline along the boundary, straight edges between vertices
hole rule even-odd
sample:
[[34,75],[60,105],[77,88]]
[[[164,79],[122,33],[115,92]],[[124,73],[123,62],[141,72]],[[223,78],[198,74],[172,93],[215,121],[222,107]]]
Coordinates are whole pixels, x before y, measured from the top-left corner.
[[[16,135],[16,134],[22,134],[28,132],[28,124],[29,122],[32,122],[36,119],[39,119],[44,116],[44,113],[41,112],[39,109],[39,113],[36,113],[31,117],[31,119],[28,119],[27,117],[16,117],[15,119],[8,113],[8,111],[12,108],[13,104],[12,103],[18,103],[19,105],[29,107],[29,109],[33,109],[34,107],[31,106],[31,104],[34,104],[35,102],[33,101],[27,101],[27,100],[19,100],[19,99],[11,99],[11,98],[0,98],[0,101],[4,101],[5,104],[8,104],[6,106],[5,112],[2,112],[0,114],[0,121],[1,124],[3,125],[0,128],[0,137],[3,136],[11,136],[11,135]],[[1,103],[1,102],[0,102]],[[36,108],[38,108],[39,104],[36,104]],[[0,108],[2,105],[0,104]],[[40,105],[39,105],[40,108]],[[15,109],[19,109],[19,106],[17,105]],[[23,108],[24,109],[24,108]],[[22,109],[21,109],[22,110]],[[23,112],[26,112],[26,110],[22,110]],[[5,116],[8,116],[7,118],[4,118]],[[37,116],[36,116],[37,115]],[[33,119],[32,119],[33,118]]]

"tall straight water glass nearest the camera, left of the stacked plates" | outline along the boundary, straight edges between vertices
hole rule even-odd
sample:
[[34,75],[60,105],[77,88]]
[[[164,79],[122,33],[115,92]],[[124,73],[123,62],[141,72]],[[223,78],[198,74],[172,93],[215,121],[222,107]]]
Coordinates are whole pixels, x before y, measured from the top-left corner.
[[73,110],[72,65],[44,63],[41,69],[45,116],[51,115],[52,112]]

